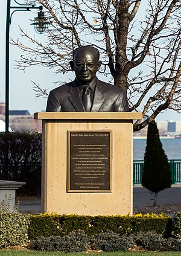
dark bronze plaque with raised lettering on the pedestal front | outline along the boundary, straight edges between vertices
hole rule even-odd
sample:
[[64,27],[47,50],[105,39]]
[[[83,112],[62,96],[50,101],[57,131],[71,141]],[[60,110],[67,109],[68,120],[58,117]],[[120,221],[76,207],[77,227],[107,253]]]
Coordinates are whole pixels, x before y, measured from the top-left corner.
[[112,131],[68,131],[68,192],[110,193]]

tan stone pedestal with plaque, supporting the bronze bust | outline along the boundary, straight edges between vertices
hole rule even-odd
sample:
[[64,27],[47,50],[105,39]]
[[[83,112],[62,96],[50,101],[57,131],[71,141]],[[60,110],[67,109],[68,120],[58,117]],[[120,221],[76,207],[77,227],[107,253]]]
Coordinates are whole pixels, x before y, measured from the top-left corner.
[[133,120],[141,113],[46,112],[34,118],[43,129],[42,213],[132,214]]

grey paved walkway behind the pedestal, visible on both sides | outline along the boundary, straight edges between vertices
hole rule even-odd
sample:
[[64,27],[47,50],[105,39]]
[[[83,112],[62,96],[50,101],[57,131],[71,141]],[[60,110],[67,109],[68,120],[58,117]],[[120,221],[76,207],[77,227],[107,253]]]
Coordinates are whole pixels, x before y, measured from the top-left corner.
[[[153,206],[154,194],[142,188],[135,186],[133,188],[133,206]],[[181,203],[181,184],[173,185],[171,188],[160,191],[157,198],[158,205]],[[19,211],[29,213],[40,213],[40,200],[28,200],[19,203]]]

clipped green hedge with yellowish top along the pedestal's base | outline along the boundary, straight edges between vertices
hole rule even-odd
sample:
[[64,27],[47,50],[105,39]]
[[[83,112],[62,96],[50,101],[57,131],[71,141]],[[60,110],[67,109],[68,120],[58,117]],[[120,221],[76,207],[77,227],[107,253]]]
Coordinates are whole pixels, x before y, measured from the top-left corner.
[[51,235],[66,235],[71,231],[81,229],[88,236],[113,231],[119,235],[135,234],[136,232],[154,231],[165,237],[171,234],[171,217],[165,214],[135,214],[133,216],[77,216],[58,214],[40,214],[30,216],[28,237],[49,237]]

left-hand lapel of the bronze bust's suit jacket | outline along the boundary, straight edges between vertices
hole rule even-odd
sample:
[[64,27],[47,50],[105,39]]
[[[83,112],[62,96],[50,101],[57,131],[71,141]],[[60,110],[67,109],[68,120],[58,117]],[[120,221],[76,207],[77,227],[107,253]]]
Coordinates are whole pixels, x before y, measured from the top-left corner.
[[75,110],[77,112],[84,112],[83,103],[81,101],[80,94],[78,93],[78,88],[77,88],[77,85],[76,85],[75,81],[73,81],[71,83],[71,86],[70,86],[68,92],[70,93],[70,95],[68,97],[69,101],[71,101]]

